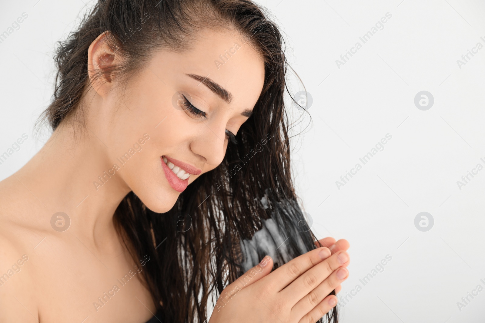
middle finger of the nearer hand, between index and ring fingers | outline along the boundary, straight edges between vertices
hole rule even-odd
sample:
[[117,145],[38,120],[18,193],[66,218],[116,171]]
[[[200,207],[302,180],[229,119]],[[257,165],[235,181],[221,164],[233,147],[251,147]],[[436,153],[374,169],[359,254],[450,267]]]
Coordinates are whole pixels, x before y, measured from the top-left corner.
[[[284,294],[283,297],[288,297],[294,300],[302,299],[314,288],[320,285],[324,279],[337,270],[337,268],[346,266],[349,263],[349,260],[349,254],[346,251],[339,251],[339,253],[328,257],[307,272],[303,273],[300,277],[296,278],[290,285],[282,290],[281,292]],[[327,295],[332,290],[330,290]],[[296,301],[295,304],[297,302],[298,301]]]

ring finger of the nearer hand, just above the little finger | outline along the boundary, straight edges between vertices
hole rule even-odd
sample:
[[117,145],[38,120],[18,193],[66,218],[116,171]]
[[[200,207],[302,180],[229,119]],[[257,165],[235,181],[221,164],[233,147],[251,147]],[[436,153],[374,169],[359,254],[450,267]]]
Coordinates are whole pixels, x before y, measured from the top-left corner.
[[295,306],[291,309],[295,317],[302,317],[306,313],[310,312],[313,308],[317,307],[322,300],[336,289],[345,279],[349,277],[349,272],[346,268],[340,267],[334,271],[329,277],[318,285],[314,290],[303,297]]

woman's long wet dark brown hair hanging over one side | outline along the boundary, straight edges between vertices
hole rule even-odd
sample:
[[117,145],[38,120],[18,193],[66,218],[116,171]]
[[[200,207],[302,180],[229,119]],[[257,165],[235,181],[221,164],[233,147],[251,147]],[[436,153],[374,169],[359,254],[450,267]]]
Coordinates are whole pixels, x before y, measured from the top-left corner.
[[[241,35],[262,55],[265,79],[238,142],[229,143],[221,165],[189,185],[170,211],[152,212],[133,192],[115,211],[113,221],[133,260],[151,257],[144,283],[162,322],[205,322],[210,304],[243,274],[248,259],[242,240],[250,240],[267,219],[275,219],[280,236],[288,237],[287,255],[278,250],[272,255],[279,259],[275,267],[316,247],[311,231],[297,230],[304,217],[291,180],[283,102],[288,64],[276,25],[249,0],[100,0],[59,42],[55,92],[39,119],[53,130],[63,120],[82,124],[81,102],[91,84],[87,51],[104,31],[110,31],[113,50],[124,58],[112,73],[128,80],[156,50],[188,50],[201,28]],[[257,248],[259,259],[266,251]],[[336,306],[327,313],[328,322],[337,323],[337,313]]]

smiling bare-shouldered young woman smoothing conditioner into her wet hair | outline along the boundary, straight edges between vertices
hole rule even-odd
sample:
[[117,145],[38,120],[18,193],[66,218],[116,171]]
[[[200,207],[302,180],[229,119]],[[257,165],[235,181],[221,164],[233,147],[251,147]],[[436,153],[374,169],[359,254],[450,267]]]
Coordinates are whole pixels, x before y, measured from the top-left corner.
[[52,136],[0,182],[0,322],[338,321],[349,244],[305,227],[258,5],[100,0],[56,62]]

